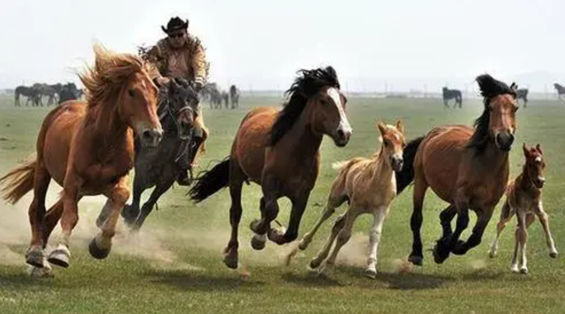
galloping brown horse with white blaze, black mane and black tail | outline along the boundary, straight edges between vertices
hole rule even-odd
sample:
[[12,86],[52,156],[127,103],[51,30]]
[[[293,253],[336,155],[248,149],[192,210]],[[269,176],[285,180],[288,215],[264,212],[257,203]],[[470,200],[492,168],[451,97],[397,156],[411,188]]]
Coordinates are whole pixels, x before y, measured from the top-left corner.
[[[346,99],[340,91],[332,67],[298,71],[299,76],[286,95],[282,110],[255,108],[244,117],[233,141],[229,158],[197,180],[190,190],[195,202],[201,202],[225,186],[232,199],[230,223],[232,235],[225,248],[224,263],[237,268],[238,225],[241,219],[241,188],[251,180],[262,187],[261,219],[251,223],[255,233],[251,246],[261,250],[267,238],[282,245],[298,237],[298,227],[310,191],[320,167],[323,135],[337,146],[345,146],[351,127],[345,115]],[[271,229],[279,213],[277,199],[292,202],[289,228]]]

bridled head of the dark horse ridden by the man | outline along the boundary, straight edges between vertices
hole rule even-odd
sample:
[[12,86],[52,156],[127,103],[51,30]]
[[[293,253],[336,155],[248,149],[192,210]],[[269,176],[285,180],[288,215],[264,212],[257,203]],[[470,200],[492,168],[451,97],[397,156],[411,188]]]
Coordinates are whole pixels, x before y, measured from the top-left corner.
[[198,102],[198,94],[188,81],[177,78],[169,81],[168,110],[181,139],[189,139],[192,135]]

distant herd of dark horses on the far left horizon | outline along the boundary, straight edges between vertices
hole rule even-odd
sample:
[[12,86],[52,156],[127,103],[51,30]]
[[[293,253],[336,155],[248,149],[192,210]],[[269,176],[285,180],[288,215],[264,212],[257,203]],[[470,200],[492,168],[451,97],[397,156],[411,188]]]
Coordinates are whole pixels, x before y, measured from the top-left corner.
[[16,87],[14,91],[14,105],[16,107],[21,106],[20,97],[25,96],[27,100],[25,101],[25,106],[32,103],[32,106],[39,107],[43,106],[43,97],[47,97],[47,106],[52,104],[60,104],[65,101],[72,99],[79,99],[82,96],[82,89],[78,89],[74,83],[67,84],[44,84],[36,83],[32,86],[20,85]]

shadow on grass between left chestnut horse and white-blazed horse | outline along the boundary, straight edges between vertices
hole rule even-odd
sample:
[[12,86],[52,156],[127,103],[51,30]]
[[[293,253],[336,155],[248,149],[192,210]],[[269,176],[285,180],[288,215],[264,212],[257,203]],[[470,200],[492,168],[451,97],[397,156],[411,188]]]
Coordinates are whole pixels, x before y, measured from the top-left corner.
[[184,271],[150,271],[144,274],[154,284],[168,285],[189,291],[233,291],[242,287],[263,286],[262,281],[241,279],[235,276],[218,276],[209,273],[194,273]]

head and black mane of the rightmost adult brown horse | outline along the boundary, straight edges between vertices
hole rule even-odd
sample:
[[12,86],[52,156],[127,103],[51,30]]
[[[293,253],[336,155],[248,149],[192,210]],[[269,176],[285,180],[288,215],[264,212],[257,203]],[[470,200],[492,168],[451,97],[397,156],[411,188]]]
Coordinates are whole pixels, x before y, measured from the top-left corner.
[[516,89],[514,83],[509,87],[504,82],[485,74],[477,77],[481,94],[484,97],[483,115],[475,121],[476,131],[471,146],[484,150],[489,139],[501,151],[510,151],[516,132]]

